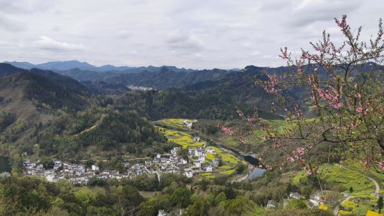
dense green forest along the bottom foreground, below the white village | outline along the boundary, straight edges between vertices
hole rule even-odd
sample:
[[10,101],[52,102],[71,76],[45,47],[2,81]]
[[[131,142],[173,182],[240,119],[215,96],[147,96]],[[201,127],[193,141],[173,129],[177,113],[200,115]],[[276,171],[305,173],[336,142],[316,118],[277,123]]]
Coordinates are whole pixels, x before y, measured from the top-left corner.
[[[277,179],[280,174],[275,175],[270,178]],[[231,184],[222,178],[189,185],[191,182],[185,176],[164,174],[160,181],[144,176],[121,181],[92,179],[88,186],[75,187],[66,180],[47,183],[38,178],[2,177],[0,213],[155,216],[159,210],[178,214],[184,209],[183,215],[330,215],[323,210],[309,210],[296,199],[284,210],[265,210],[261,205],[268,199],[282,199],[287,192],[298,188],[276,185],[275,180],[263,185],[262,181],[260,178],[252,183]],[[145,198],[139,190],[158,192]],[[259,192],[254,193],[255,190]]]

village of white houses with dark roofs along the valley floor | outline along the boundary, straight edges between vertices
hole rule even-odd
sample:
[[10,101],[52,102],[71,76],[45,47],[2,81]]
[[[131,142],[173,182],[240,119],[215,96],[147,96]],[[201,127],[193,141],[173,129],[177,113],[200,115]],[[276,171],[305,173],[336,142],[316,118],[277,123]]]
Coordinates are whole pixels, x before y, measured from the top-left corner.
[[[194,137],[199,140],[199,137]],[[192,178],[194,173],[212,172],[220,164],[220,160],[213,159],[206,162],[207,153],[215,153],[212,147],[197,147],[188,149],[188,158],[179,155],[180,147],[171,149],[170,154],[156,155],[153,160],[144,163],[130,164],[125,162],[125,170],[123,172],[115,170],[99,170],[97,164],[86,168],[83,164],[72,164],[69,162],[61,162],[54,160],[52,169],[45,169],[43,164],[38,162],[24,162],[24,170],[26,176],[40,176],[46,178],[49,182],[56,182],[60,179],[67,179],[75,185],[86,185],[90,178],[96,177],[100,179],[121,179],[135,178],[139,175],[157,175],[159,180],[162,173],[180,173],[187,178]]]

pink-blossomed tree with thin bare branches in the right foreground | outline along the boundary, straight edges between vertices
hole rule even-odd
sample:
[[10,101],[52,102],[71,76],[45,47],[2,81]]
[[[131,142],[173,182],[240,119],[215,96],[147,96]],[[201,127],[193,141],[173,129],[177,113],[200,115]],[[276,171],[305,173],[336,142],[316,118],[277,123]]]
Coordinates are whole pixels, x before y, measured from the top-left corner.
[[[378,22],[378,32],[368,42],[346,22],[335,18],[344,40],[340,45],[323,31],[323,38],[310,43],[313,51],[302,49],[294,57],[285,47],[280,55],[289,71],[266,75],[255,80],[267,93],[275,96],[279,106],[272,103],[272,112],[284,114],[288,127],[273,128],[262,121],[255,109],[247,118],[255,128],[263,128],[266,135],[257,137],[271,140],[273,146],[286,154],[275,164],[298,162],[309,175],[317,171],[316,155],[325,151],[339,158],[353,157],[384,171],[384,29]],[[301,90],[301,91],[299,91]],[[300,97],[287,98],[289,91],[300,92]],[[311,107],[311,109],[309,109]],[[238,111],[244,116],[242,111]],[[220,128],[235,135],[231,128]],[[247,140],[238,134],[243,144]],[[268,162],[263,161],[267,168]]]

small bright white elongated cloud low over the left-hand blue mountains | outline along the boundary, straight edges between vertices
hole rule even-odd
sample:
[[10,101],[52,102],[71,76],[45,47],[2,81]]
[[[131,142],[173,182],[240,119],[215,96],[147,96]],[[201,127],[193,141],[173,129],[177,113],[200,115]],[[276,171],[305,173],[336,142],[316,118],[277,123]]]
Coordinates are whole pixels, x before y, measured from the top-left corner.
[[40,40],[37,40],[35,43],[33,43],[33,46],[38,49],[44,49],[54,52],[82,51],[85,49],[84,45],[63,43],[47,36],[41,36]]

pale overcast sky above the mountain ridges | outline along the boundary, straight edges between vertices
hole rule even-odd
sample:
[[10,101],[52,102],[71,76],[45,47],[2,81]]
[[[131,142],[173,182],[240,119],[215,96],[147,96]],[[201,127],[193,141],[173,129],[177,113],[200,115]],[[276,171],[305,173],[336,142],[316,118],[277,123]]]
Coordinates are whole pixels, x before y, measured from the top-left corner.
[[383,0],[0,0],[0,61],[244,68],[284,65],[346,14],[363,38]]

